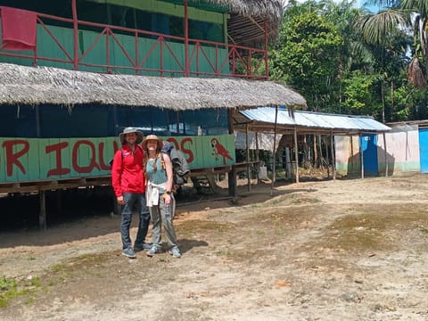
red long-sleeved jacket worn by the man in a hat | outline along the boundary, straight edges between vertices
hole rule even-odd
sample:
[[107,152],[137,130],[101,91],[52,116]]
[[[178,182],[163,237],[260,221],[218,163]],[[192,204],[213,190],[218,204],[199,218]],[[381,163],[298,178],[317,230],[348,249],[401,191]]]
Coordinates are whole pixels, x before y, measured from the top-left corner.
[[111,167],[111,185],[116,196],[122,193],[145,193],[143,171],[144,152],[140,145],[132,152],[128,144],[114,154]]

